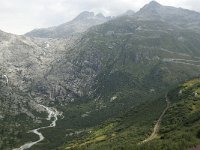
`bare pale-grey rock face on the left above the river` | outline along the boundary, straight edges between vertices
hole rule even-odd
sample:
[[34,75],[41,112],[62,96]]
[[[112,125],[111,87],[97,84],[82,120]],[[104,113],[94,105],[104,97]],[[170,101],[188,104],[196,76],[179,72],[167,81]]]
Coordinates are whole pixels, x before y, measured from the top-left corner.
[[[95,56],[88,54],[81,58],[79,49],[74,48],[81,41],[81,35],[65,39],[36,39],[1,32],[0,39],[1,82],[10,88],[4,91],[9,93],[16,89],[19,93],[26,93],[26,102],[37,103],[55,100],[66,103],[74,97],[89,94],[96,75],[93,68]],[[17,96],[14,103],[10,103],[15,112],[12,114],[26,112],[33,117],[26,111],[20,94]],[[3,105],[10,106],[1,101]]]

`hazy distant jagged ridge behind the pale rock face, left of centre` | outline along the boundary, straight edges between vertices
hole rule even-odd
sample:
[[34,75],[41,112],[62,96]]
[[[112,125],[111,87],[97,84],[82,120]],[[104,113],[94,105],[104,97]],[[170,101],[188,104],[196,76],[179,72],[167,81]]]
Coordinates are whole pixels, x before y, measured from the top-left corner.
[[40,38],[64,38],[72,34],[82,33],[88,28],[108,21],[110,17],[102,14],[95,15],[93,12],[82,12],[75,19],[59,26],[46,29],[35,29],[26,33],[26,36]]

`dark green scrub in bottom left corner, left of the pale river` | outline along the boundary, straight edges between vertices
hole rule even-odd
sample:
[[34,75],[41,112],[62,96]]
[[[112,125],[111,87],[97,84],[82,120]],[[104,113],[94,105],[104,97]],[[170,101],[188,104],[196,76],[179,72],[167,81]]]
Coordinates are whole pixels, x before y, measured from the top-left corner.
[[0,149],[9,150],[38,139],[35,134],[26,133],[33,127],[33,120],[26,115],[5,118],[0,124]]

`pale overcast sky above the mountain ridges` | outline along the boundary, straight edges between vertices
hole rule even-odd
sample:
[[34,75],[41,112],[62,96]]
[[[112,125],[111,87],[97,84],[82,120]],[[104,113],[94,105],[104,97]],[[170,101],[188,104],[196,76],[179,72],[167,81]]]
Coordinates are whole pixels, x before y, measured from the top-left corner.
[[[151,0],[0,0],[0,29],[24,34],[34,28],[70,21],[82,11],[116,16],[126,10],[139,10]],[[157,0],[163,5],[200,12],[200,0]]]

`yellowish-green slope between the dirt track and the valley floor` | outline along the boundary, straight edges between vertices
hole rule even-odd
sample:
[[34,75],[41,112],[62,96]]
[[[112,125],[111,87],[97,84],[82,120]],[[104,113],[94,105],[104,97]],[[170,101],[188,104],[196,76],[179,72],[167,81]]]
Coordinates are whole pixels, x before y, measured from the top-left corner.
[[[154,121],[157,120],[165,107],[164,99],[145,102],[131,108],[127,113],[116,119],[90,128],[90,133],[82,140],[67,144],[72,149],[129,149],[151,134]],[[101,139],[101,140],[99,140]]]

